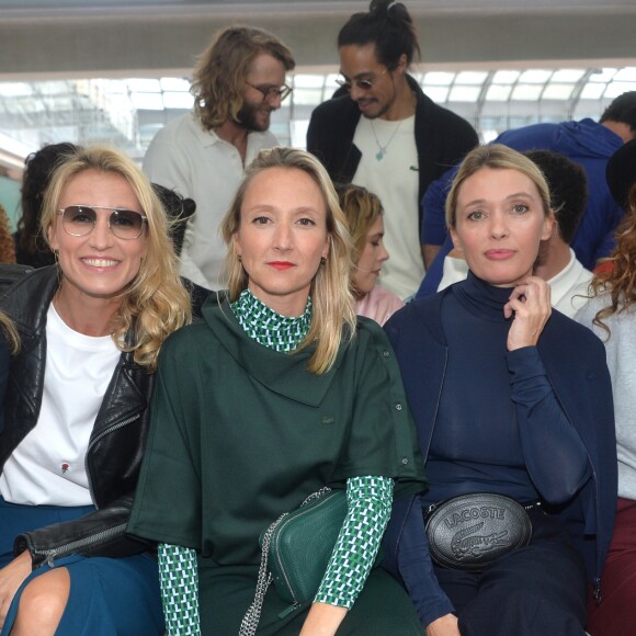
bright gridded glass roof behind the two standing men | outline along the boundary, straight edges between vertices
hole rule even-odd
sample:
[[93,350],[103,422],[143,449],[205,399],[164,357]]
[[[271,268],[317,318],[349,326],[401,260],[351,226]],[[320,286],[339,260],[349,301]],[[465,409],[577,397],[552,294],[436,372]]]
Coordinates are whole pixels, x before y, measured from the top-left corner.
[[[599,118],[612,99],[636,90],[636,67],[430,70],[413,73],[439,104],[468,120],[488,141],[536,122]],[[282,144],[303,147],[313,109],[338,89],[337,75],[297,72],[274,114]],[[0,82],[0,158],[21,159],[45,144],[111,143],[140,160],[156,132],[192,106],[188,78]]]

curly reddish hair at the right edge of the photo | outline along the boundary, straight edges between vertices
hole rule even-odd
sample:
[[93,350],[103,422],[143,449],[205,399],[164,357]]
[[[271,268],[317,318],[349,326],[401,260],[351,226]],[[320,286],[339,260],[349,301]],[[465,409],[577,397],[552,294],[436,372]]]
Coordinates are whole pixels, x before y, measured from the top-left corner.
[[618,314],[636,302],[636,183],[627,195],[627,206],[623,220],[616,228],[616,247],[606,259],[601,259],[601,268],[590,283],[592,297],[605,292],[610,305],[594,316],[594,325],[611,336],[610,327],[603,322],[613,314]]

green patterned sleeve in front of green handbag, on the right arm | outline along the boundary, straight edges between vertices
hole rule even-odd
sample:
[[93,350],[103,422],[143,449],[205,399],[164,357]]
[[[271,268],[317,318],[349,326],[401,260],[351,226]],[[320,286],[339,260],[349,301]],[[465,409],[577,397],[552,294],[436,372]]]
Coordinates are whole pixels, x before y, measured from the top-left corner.
[[347,516],[315,602],[352,607],[379,550],[390,516],[393,486],[388,477],[347,480]]

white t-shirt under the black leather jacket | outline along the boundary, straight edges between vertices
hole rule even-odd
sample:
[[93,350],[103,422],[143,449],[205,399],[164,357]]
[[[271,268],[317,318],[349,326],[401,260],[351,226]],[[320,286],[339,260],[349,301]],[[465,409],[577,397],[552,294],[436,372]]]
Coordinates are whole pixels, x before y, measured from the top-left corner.
[[70,329],[49,305],[44,394],[36,427],[0,476],[5,501],[29,506],[92,503],[84,457],[93,424],[121,356],[110,336]]

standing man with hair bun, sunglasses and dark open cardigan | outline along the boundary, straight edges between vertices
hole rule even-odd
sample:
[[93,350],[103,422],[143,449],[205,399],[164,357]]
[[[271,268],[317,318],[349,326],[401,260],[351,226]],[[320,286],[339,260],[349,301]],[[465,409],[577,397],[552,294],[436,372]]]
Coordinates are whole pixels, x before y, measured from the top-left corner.
[[314,111],[307,149],[333,181],[363,185],[382,200],[391,258],[381,282],[406,299],[424,274],[419,202],[429,183],[478,143],[477,134],[408,75],[420,48],[401,2],[373,0],[368,12],[352,15],[338,35],[338,49],[347,94]]

